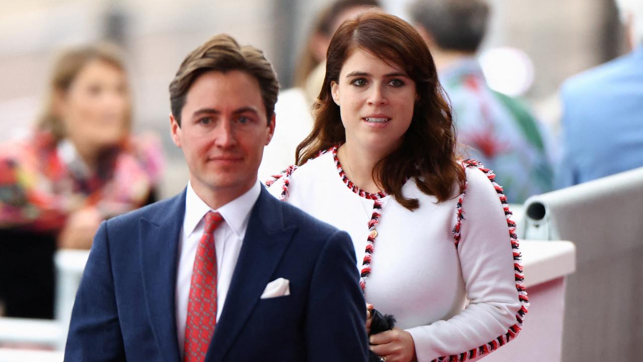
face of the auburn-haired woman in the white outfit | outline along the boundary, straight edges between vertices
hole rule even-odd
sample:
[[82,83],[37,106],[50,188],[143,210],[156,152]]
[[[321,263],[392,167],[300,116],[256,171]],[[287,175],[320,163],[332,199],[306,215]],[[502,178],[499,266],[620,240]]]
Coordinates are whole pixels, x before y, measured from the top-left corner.
[[332,98],[340,106],[347,144],[394,151],[413,118],[415,82],[403,67],[357,48],[344,62]]

